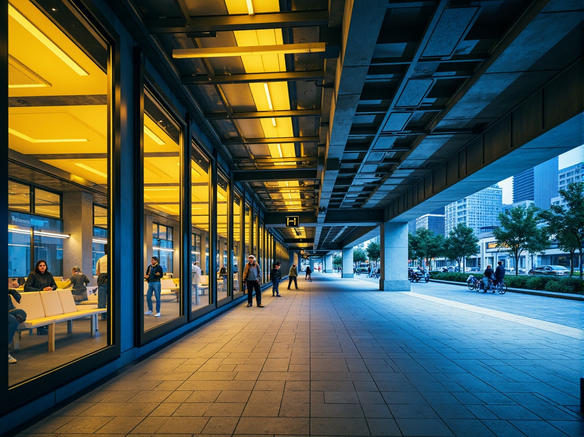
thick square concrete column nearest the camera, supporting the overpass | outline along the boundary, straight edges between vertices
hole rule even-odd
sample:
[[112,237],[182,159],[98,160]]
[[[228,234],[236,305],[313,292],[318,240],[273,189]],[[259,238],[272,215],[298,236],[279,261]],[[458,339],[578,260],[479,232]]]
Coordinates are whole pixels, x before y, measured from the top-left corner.
[[384,292],[409,292],[408,223],[385,222],[380,228],[379,289]]

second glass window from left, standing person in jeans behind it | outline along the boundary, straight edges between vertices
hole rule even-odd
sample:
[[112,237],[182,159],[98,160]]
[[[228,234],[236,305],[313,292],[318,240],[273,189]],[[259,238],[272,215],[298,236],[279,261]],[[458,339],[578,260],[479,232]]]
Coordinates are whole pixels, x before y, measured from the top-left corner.
[[180,307],[179,123],[150,86],[144,87],[144,331],[182,315]]

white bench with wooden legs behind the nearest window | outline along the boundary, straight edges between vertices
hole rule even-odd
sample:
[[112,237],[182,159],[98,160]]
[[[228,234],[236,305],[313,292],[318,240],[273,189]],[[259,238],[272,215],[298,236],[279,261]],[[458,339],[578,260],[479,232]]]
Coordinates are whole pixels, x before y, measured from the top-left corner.
[[26,321],[18,326],[18,332],[12,341],[13,349],[19,348],[20,331],[32,330],[48,325],[48,351],[55,350],[55,323],[67,322],[67,332],[73,331],[73,321],[76,318],[90,317],[90,335],[95,335],[98,329],[98,314],[107,312],[106,308],[85,310],[75,306],[71,290],[51,290],[48,292],[25,292],[20,294],[20,303],[13,297],[16,308],[22,308],[26,313]]

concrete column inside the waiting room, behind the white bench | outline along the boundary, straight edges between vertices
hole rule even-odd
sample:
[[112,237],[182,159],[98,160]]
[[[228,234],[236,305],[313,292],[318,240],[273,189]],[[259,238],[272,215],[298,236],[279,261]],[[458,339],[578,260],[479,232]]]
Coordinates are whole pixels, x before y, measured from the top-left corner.
[[71,268],[77,265],[92,278],[93,196],[85,192],[64,192],[62,199],[63,232],[71,235],[63,240],[62,275],[71,278]]

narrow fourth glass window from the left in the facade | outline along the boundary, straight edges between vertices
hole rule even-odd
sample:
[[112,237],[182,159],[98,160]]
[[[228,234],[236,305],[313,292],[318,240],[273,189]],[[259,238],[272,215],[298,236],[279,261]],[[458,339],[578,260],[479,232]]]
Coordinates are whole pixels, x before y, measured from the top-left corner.
[[227,178],[217,174],[217,300],[231,296],[229,277],[232,269],[227,263],[228,185]]

